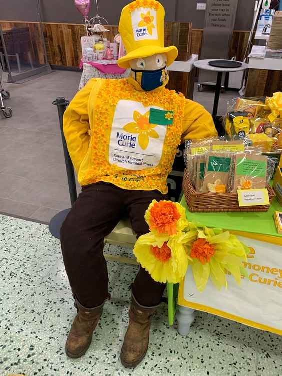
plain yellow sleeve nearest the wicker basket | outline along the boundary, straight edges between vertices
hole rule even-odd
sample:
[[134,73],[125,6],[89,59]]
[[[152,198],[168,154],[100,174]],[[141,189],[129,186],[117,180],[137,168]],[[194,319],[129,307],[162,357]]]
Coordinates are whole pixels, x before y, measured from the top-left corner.
[[181,142],[217,135],[210,113],[199,103],[186,99]]

